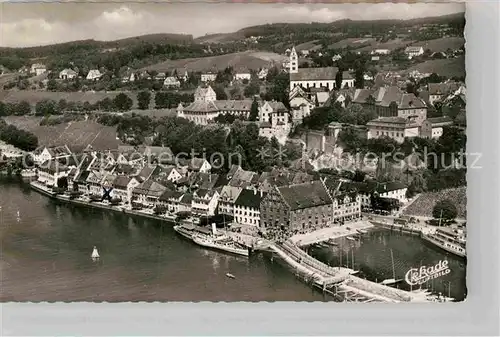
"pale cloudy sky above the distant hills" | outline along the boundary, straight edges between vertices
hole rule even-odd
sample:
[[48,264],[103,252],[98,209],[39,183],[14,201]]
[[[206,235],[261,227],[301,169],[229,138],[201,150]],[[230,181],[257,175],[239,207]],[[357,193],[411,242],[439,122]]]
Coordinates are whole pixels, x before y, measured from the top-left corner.
[[463,3],[0,2],[0,46],[27,47],[83,39],[109,41],[154,33],[184,33],[198,37],[266,23],[411,19],[464,11]]

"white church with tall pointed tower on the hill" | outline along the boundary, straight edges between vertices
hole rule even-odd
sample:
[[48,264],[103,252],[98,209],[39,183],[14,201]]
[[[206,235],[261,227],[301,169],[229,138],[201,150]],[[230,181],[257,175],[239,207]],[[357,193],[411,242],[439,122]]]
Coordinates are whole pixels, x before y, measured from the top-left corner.
[[[335,77],[338,71],[337,67],[300,68],[299,57],[295,47],[293,47],[290,53],[289,67],[290,91],[297,86],[306,91],[309,91],[311,88],[323,88],[325,91],[331,91],[336,88]],[[354,87],[354,77],[348,71],[344,71],[342,74],[342,88],[346,87]]]

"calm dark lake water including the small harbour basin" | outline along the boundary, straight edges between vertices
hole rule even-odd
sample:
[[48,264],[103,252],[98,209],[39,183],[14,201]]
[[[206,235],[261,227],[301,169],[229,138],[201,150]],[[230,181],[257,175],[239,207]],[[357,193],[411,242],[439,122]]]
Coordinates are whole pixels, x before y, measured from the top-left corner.
[[[2,301],[331,300],[276,261],[200,248],[177,235],[171,224],[60,204],[3,178],[0,207]],[[94,245],[99,262],[90,259]],[[342,248],[344,264],[350,251],[356,269],[379,280],[392,277],[391,248],[397,278],[415,261],[428,264],[446,257],[418,238],[385,231]],[[311,253],[330,263],[340,258],[333,248]],[[465,268],[459,260],[448,260],[452,295],[463,297]],[[228,272],[236,279],[227,278]]]

